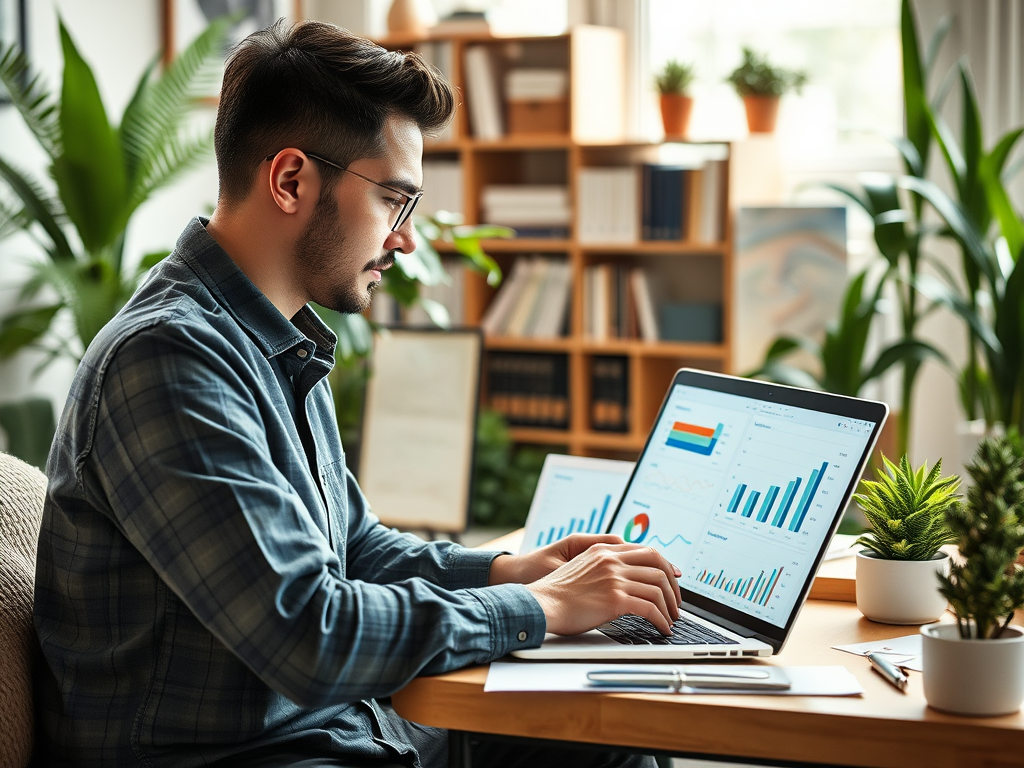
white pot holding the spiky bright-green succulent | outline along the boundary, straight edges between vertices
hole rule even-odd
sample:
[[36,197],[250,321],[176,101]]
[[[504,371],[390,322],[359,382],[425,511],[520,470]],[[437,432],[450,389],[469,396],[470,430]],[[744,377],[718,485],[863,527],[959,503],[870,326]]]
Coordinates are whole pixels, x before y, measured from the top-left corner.
[[932,560],[886,560],[857,553],[857,607],[872,622],[928,624],[946,609],[936,573],[949,573],[949,555]]

